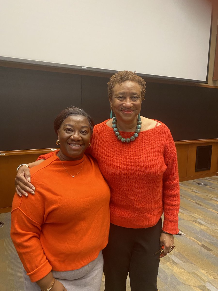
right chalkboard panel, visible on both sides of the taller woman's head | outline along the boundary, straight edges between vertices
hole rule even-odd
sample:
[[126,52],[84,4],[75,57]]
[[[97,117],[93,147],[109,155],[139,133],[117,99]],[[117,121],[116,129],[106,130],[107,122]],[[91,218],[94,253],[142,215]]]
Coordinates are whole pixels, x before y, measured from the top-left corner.
[[[110,117],[108,78],[82,76],[83,109],[96,123]],[[218,88],[147,81],[141,115],[165,123],[174,141],[218,138]]]

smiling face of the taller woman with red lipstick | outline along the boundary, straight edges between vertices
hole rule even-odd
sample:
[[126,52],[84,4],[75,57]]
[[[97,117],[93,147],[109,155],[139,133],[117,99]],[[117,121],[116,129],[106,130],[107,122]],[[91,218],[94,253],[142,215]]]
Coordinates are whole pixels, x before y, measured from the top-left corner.
[[116,84],[109,101],[118,119],[124,122],[134,120],[141,110],[141,88],[134,81]]

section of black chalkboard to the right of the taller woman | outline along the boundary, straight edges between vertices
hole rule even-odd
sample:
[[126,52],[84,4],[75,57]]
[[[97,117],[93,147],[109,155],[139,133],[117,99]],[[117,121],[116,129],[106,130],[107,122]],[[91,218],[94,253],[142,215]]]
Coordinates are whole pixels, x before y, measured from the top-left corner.
[[218,138],[218,88],[147,83],[143,114],[161,120],[174,141]]

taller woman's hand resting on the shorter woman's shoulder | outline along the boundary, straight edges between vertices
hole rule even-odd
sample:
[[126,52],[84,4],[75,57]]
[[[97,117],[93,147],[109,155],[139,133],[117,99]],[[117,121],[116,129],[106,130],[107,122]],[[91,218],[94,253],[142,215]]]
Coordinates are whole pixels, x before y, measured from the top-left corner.
[[27,166],[20,167],[15,178],[15,189],[20,197],[22,197],[22,195],[27,197],[27,192],[33,195],[35,194],[35,187],[30,183],[30,181],[31,175],[29,168]]

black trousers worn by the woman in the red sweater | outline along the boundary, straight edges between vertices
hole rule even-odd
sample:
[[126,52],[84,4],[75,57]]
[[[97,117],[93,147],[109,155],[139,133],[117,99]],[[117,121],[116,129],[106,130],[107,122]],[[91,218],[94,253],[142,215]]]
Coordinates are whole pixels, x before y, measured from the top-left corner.
[[149,228],[125,228],[110,224],[109,241],[102,250],[105,291],[157,291],[161,219]]

